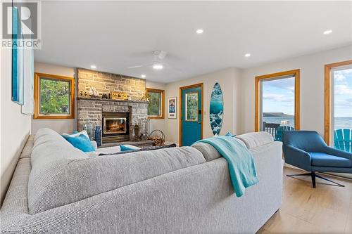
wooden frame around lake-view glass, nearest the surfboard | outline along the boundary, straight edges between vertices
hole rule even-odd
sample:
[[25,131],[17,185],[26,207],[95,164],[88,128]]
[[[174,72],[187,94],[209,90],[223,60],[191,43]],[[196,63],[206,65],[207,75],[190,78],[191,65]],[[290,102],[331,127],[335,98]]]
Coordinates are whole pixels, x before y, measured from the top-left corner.
[[255,115],[254,115],[254,131],[260,131],[262,112],[262,83],[266,80],[282,79],[288,76],[294,77],[294,129],[300,129],[300,70],[289,70],[286,72],[276,72],[272,74],[264,74],[255,79]]

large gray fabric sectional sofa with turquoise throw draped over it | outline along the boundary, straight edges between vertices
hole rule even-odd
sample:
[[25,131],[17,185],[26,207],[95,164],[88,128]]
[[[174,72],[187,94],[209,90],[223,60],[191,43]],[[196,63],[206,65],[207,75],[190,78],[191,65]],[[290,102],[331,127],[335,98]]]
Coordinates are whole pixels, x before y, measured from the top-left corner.
[[206,143],[89,157],[51,129],[30,138],[1,207],[1,233],[256,233],[282,202],[282,144],[238,136],[259,183],[236,197]]

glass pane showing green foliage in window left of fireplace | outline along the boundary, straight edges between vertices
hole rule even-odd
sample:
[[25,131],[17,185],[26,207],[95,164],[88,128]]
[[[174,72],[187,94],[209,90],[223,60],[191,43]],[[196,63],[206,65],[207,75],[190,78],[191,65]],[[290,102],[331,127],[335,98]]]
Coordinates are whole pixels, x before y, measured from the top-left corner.
[[70,82],[57,79],[40,79],[39,113],[70,114]]

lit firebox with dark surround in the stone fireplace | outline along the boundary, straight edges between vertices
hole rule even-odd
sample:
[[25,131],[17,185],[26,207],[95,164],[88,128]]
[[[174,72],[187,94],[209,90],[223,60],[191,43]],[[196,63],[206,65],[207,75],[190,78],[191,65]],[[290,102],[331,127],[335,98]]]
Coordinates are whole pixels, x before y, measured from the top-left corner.
[[126,112],[103,112],[102,142],[130,141],[129,119],[129,113]]

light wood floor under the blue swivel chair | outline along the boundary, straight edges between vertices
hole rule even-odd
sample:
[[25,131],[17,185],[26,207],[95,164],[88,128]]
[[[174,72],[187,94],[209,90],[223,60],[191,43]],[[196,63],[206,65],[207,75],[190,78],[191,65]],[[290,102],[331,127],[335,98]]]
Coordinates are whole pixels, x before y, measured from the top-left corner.
[[317,178],[312,188],[310,176],[290,178],[303,171],[284,168],[282,207],[258,233],[352,233],[352,181],[335,176],[327,178],[344,188],[327,186]]

